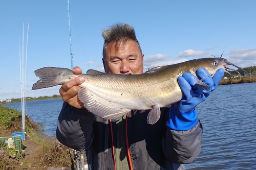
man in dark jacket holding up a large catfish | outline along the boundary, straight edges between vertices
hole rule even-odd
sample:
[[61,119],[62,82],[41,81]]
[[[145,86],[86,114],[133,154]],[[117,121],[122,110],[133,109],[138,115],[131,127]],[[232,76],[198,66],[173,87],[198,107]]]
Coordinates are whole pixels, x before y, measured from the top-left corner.
[[[117,23],[102,31],[103,65],[106,73],[142,74],[143,57],[133,27]],[[74,74],[81,74],[79,67]],[[93,115],[77,98],[83,77],[63,84],[64,101],[58,118],[57,139],[78,151],[86,151],[89,169],[185,169],[201,150],[202,126],[195,107],[219,84],[224,70],[211,78],[199,68],[197,75],[210,90],[194,86],[195,76],[185,73],[178,78],[184,98],[171,107],[161,108],[154,125],[146,123],[149,110],[132,110],[115,120]]]

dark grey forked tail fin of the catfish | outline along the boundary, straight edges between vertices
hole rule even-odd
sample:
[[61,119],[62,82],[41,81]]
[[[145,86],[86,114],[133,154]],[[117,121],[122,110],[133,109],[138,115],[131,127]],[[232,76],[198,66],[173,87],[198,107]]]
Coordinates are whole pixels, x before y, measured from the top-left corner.
[[65,80],[67,76],[74,74],[68,68],[44,67],[35,70],[35,75],[40,80],[33,84],[32,90],[62,85],[70,79]]

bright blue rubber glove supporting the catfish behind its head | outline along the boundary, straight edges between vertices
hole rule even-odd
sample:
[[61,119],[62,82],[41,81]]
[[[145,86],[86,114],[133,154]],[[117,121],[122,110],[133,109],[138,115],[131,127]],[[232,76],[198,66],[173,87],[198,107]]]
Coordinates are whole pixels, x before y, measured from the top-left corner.
[[209,72],[201,67],[197,69],[196,74],[201,80],[188,72],[178,78],[184,97],[170,108],[169,121],[166,122],[166,126],[171,129],[185,131],[197,125],[195,108],[206,100],[211,91],[216,89],[224,76],[224,69],[218,69],[212,78]]

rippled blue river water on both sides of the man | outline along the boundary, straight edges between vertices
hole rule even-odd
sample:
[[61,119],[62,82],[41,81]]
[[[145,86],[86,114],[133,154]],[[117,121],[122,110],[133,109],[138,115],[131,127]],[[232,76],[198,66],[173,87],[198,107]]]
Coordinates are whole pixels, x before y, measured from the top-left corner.
[[[197,106],[202,150],[186,169],[256,169],[256,83],[221,85]],[[21,110],[20,103],[4,105]],[[61,99],[26,102],[26,112],[55,134]]]

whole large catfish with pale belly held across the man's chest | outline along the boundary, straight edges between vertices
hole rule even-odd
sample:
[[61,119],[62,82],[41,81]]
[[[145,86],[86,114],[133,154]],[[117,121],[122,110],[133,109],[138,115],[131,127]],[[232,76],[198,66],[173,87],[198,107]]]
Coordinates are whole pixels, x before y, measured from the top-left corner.
[[[184,72],[197,76],[196,70],[202,67],[213,77],[219,68],[228,72],[227,65],[240,68],[224,58],[202,58],[154,67],[141,75],[105,74],[96,70],[75,75],[68,68],[44,67],[35,70],[35,75],[40,80],[33,84],[32,90],[62,85],[83,76],[86,81],[79,85],[82,89],[78,92],[78,98],[93,114],[105,119],[115,119],[131,110],[151,109],[147,123],[155,124],[160,117],[161,107],[179,102],[183,98],[177,80],[179,76]],[[207,88],[201,80],[197,84]]]

